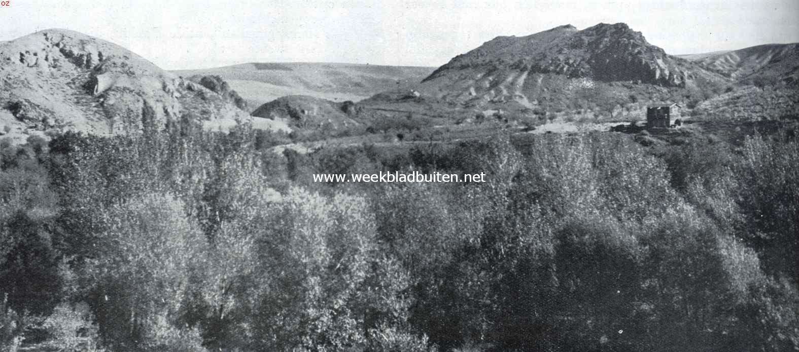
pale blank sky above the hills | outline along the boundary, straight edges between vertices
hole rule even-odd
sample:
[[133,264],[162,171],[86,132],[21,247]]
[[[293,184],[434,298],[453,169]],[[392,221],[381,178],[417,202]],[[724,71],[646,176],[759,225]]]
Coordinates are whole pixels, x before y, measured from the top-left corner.
[[626,22],[666,53],[799,42],[799,0],[10,0],[0,41],[66,28],[164,69],[250,61],[443,65],[499,35]]

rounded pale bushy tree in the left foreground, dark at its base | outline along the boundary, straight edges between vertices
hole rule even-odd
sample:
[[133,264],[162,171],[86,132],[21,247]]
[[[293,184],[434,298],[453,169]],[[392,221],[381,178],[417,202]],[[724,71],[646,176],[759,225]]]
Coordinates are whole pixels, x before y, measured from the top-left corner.
[[137,197],[101,214],[108,231],[85,273],[95,278],[101,334],[113,342],[153,341],[153,326],[177,322],[205,238],[170,195]]

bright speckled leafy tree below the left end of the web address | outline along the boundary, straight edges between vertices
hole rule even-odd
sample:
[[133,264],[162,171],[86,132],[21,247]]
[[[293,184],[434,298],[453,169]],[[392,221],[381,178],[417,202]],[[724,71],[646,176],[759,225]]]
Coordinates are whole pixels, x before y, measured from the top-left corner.
[[291,188],[280,205],[259,244],[269,288],[258,292],[253,322],[260,348],[362,346],[364,315],[352,303],[368,276],[375,232],[365,201]]

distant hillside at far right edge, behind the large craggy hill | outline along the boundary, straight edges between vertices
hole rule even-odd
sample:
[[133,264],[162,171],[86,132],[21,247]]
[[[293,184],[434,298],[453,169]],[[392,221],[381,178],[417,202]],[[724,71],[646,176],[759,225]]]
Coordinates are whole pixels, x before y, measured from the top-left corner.
[[794,84],[799,78],[799,43],[757,45],[684,57],[741,83]]

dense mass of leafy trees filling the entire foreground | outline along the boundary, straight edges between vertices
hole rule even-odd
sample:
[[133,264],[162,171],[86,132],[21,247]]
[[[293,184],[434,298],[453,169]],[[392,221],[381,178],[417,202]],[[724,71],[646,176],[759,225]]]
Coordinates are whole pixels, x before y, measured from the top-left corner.
[[[799,142],[615,133],[277,156],[228,135],[3,146],[0,346],[792,350]],[[485,172],[481,184],[310,174]],[[25,340],[22,340],[25,338]]]

